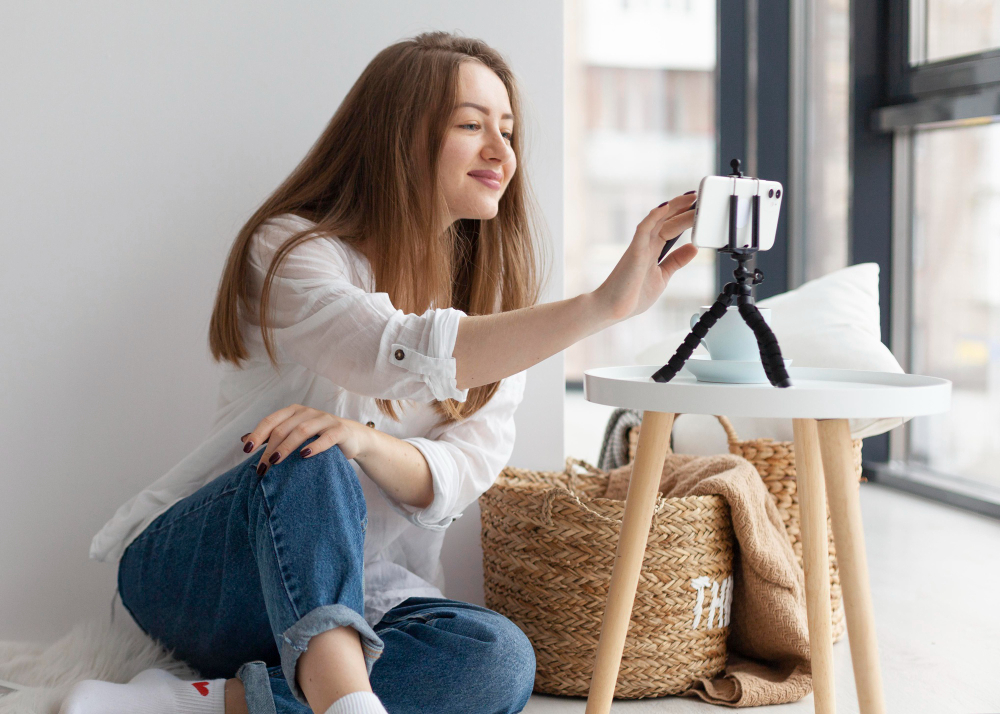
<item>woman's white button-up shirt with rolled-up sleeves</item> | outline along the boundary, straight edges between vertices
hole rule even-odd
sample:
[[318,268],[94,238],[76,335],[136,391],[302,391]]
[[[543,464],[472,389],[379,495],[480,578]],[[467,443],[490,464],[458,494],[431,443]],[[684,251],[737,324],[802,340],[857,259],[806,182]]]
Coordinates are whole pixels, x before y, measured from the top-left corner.
[[[250,250],[253,294],[277,249],[315,224],[292,214],[265,223]],[[241,322],[250,359],[225,362],[216,416],[205,441],[148,488],[122,505],[94,537],[90,557],[117,562],[132,540],[178,500],[247,458],[240,437],[290,404],[373,424],[413,444],[427,459],[434,500],[427,508],[395,501],[353,459],[368,509],[365,537],[365,620],[374,626],[411,596],[444,597],[441,545],[448,525],[493,484],[514,447],[514,410],[525,373],[501,381],[482,409],[438,426],[430,401],[465,401],[452,356],[459,319],[454,308],[404,314],[387,293],[374,292],[365,256],[339,238],[297,246],[272,283],[272,327],[280,371],[271,366],[259,326]],[[400,421],[375,399],[408,400]]]

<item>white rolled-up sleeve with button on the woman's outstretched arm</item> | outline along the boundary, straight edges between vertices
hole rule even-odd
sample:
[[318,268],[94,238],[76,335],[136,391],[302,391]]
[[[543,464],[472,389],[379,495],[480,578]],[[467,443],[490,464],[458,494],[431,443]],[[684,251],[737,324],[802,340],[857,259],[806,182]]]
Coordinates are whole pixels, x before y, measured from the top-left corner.
[[[254,234],[250,265],[257,295],[277,249],[309,225],[298,220],[272,219]],[[387,293],[356,284],[367,261],[362,270],[363,256],[352,253],[342,242],[320,237],[287,254],[272,282],[269,310],[281,361],[368,397],[464,402],[469,390],[458,388],[453,353],[466,313],[450,307],[404,313]],[[245,335],[262,345],[259,326]]]

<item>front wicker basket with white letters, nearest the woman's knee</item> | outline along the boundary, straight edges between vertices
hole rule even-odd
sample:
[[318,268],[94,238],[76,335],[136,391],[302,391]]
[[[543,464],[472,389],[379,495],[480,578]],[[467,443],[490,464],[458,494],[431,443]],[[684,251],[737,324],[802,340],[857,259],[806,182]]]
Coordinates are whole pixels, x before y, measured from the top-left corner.
[[[507,467],[479,498],[485,604],[531,640],[536,692],[590,690],[625,511],[601,496],[608,479],[572,458],[564,472]],[[657,498],[616,697],[677,694],[722,671],[733,543],[720,496]]]

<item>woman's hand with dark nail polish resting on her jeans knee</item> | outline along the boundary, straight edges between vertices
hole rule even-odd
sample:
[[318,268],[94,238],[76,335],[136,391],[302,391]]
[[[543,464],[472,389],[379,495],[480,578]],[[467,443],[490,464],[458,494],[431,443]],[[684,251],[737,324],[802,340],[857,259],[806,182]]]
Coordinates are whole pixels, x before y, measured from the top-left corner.
[[302,450],[303,458],[337,445],[344,456],[353,459],[368,443],[368,427],[363,424],[292,404],[261,419],[253,431],[242,437],[243,450],[250,453],[258,444],[267,444],[257,471],[263,474],[269,466],[280,463],[303,442],[317,435],[319,438]]

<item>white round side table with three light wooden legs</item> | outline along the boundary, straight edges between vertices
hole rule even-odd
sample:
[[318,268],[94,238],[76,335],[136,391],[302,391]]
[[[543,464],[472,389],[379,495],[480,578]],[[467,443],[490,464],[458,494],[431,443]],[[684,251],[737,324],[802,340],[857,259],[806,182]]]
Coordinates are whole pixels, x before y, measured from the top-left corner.
[[835,711],[826,532],[829,492],[858,704],[862,714],[883,714],[882,674],[848,419],[946,412],[951,405],[951,382],[914,374],[792,367],[793,386],[777,389],[770,384],[699,382],[686,369],[670,382],[655,382],[651,375],[660,367],[602,367],[584,372],[587,401],[643,412],[586,713],[611,710],[660,474],[678,413],[793,420],[815,710],[819,714]]

